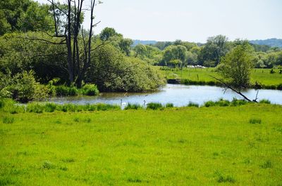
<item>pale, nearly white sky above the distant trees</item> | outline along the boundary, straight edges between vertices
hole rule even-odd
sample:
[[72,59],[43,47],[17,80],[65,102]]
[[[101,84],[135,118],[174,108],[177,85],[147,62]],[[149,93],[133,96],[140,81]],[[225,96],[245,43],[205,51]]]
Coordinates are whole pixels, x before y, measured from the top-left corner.
[[[40,3],[47,0],[37,0]],[[60,0],[63,2],[63,0]],[[85,0],[85,3],[90,0]],[[94,28],[114,27],[125,38],[204,43],[209,36],[228,39],[282,39],[282,0],[102,0]],[[85,4],[86,5],[86,4]],[[90,13],[85,13],[86,29]]]

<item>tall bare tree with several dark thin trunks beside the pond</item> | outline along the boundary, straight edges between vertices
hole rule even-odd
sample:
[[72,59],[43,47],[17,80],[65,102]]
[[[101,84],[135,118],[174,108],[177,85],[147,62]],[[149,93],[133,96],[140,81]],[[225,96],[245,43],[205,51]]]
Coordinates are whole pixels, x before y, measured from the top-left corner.
[[[47,1],[54,18],[54,37],[61,38],[61,43],[66,44],[68,80],[80,87],[91,62],[93,27],[99,23],[94,24],[95,0],[90,0],[90,8],[84,8],[85,0],[67,0],[66,4]],[[90,11],[91,15],[88,36],[81,27],[82,10]]]

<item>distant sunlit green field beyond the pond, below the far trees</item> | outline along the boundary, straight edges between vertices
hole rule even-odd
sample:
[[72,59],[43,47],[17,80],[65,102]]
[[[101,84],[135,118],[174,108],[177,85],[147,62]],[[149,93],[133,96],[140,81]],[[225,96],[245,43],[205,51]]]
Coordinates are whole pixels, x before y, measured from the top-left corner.
[[[160,67],[156,67],[160,68]],[[282,74],[276,73],[270,74],[271,69],[253,69],[251,74],[252,84],[255,84],[255,81],[266,86],[277,86],[282,84]],[[180,69],[172,70],[161,70],[166,79],[190,79],[192,81],[215,81],[212,77],[219,77],[219,74],[214,71],[214,68],[206,69],[193,69],[193,68],[184,68],[181,72]]]

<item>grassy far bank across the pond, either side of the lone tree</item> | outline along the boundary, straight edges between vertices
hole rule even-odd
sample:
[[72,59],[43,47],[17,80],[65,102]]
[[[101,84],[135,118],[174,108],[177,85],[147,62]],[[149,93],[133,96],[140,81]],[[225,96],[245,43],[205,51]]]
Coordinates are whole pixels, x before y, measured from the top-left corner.
[[[161,67],[156,67],[161,68]],[[219,85],[220,83],[210,76],[218,77],[219,74],[215,72],[214,68],[196,69],[184,68],[180,69],[166,69],[161,70],[166,79],[181,79],[182,84],[196,84],[196,85]],[[282,90],[282,74],[278,70],[274,70],[271,74],[271,69],[253,69],[251,74],[251,83],[255,87],[256,81],[261,88]]]

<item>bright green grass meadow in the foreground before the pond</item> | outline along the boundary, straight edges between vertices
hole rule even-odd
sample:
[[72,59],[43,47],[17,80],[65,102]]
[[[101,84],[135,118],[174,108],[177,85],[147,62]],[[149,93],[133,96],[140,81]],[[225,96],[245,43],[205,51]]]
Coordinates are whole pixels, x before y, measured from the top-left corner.
[[0,185],[282,185],[278,105],[0,117]]

